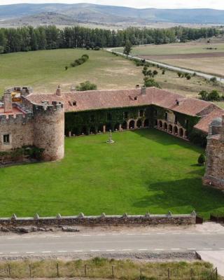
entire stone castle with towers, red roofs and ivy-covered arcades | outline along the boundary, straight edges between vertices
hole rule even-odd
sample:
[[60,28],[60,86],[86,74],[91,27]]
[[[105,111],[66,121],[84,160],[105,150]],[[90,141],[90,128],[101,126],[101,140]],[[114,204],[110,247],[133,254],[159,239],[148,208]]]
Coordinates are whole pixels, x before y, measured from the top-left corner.
[[34,94],[6,90],[0,102],[0,152],[22,146],[43,149],[43,160],[64,158],[64,135],[153,127],[189,141],[207,138],[204,183],[224,189],[224,111],[211,102],[155,87]]

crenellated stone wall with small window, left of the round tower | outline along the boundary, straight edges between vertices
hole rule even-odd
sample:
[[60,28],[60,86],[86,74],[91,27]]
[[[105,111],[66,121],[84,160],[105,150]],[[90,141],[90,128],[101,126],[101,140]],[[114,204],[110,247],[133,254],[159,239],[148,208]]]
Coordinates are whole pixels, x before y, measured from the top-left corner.
[[[9,135],[9,143],[3,142],[4,135]],[[25,117],[22,113],[15,116],[0,116],[0,151],[33,145],[34,122],[31,114]]]

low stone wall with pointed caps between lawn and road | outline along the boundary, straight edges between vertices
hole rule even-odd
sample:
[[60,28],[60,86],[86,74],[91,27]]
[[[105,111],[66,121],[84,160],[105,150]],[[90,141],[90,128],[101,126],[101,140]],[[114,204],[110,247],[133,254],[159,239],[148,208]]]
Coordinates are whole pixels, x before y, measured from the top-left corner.
[[82,226],[100,226],[100,225],[195,225],[196,214],[193,212],[190,215],[151,215],[130,216],[78,216],[62,217],[60,214],[57,217],[39,217],[38,214],[34,218],[18,218],[13,214],[12,218],[0,218],[1,227],[21,227],[21,226],[36,226],[58,227],[62,225],[82,225]]

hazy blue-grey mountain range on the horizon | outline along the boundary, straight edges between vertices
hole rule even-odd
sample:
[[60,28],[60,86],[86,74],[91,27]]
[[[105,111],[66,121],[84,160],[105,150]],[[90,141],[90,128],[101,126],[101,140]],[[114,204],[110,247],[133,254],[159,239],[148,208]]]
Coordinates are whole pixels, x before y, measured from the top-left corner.
[[[212,9],[155,9],[103,6],[90,3],[15,4],[0,6],[0,20],[21,24],[74,24],[92,22],[119,25],[147,25],[152,22],[177,24],[224,24],[224,10]],[[58,22],[58,23],[57,23]]]

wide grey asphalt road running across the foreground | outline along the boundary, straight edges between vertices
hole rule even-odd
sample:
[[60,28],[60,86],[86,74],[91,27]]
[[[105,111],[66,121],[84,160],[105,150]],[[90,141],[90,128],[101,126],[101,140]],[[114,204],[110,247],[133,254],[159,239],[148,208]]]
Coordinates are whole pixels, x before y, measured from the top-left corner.
[[224,232],[57,232],[0,237],[0,255],[179,251],[224,251]]

